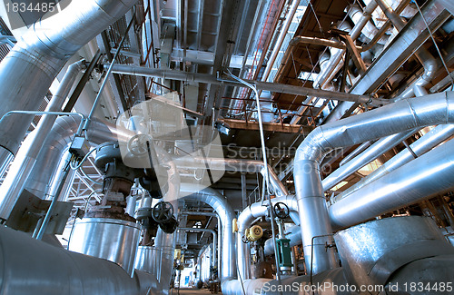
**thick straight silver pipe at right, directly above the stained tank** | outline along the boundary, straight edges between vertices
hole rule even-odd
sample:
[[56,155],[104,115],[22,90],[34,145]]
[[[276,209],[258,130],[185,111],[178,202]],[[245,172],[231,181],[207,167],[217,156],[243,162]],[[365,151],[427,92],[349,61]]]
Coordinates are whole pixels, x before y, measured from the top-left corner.
[[331,205],[331,224],[349,227],[453,187],[454,141],[449,141]]

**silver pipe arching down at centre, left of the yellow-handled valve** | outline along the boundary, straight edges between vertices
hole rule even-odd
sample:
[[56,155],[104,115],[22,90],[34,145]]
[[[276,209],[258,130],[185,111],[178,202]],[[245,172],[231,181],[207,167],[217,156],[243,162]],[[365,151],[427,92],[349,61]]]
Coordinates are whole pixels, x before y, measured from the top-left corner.
[[219,215],[222,223],[222,282],[236,277],[236,255],[233,237],[233,219],[235,214],[232,206],[219,192],[198,184],[182,183],[181,192],[188,194],[184,199],[192,199],[206,203]]

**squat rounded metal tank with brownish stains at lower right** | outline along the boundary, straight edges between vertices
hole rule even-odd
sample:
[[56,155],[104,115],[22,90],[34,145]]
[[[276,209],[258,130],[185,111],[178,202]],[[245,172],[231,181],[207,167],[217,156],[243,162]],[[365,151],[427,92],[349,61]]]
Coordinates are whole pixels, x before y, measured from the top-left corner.
[[454,254],[430,218],[401,216],[362,223],[334,235],[345,274],[357,286],[384,285],[412,261]]

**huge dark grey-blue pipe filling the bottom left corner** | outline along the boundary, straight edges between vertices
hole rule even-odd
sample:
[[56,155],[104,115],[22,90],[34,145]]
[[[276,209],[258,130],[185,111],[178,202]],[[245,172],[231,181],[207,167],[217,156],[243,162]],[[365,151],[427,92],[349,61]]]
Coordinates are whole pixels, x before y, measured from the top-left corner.
[[135,271],[133,278],[119,265],[66,251],[25,232],[0,227],[4,294],[128,294],[149,295],[156,289],[152,275]]

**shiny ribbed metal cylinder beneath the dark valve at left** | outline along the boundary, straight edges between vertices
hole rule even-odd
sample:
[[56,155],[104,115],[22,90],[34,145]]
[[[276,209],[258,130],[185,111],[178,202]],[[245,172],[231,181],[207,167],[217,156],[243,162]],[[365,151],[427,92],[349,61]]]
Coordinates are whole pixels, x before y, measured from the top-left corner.
[[74,223],[68,250],[104,258],[133,273],[140,225],[108,218],[84,218]]

